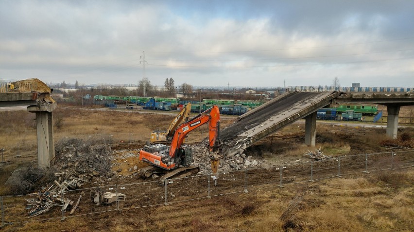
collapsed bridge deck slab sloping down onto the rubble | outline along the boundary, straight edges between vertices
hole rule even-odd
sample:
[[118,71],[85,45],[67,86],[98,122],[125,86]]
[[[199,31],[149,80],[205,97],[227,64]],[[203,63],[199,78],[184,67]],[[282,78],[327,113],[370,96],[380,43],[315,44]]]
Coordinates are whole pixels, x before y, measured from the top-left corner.
[[226,145],[224,153],[235,154],[263,139],[276,130],[304,118],[331,104],[341,93],[289,92],[255,108],[224,128],[220,139]]

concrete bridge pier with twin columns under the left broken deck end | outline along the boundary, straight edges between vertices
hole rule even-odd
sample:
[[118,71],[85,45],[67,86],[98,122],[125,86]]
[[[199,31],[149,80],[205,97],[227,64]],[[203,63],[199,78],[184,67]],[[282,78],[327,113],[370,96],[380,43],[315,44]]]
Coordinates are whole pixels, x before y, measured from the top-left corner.
[[54,158],[53,114],[56,103],[29,106],[27,111],[36,113],[37,158],[39,168],[48,168]]

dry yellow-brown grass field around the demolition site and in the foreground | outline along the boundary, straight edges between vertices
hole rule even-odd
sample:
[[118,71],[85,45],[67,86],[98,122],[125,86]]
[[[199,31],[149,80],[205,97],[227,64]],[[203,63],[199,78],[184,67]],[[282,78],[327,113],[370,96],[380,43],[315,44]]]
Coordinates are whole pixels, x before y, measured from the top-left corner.
[[[0,147],[5,147],[5,163],[0,166],[1,195],[10,194],[4,182],[19,166],[36,163],[34,114],[2,111]],[[57,108],[55,137],[112,134],[112,150],[133,151],[148,140],[154,129],[165,129],[171,115],[111,111],[104,109]],[[222,127],[233,119],[222,120]],[[56,123],[56,122],[55,122]],[[191,133],[189,143],[207,136],[205,127]],[[414,130],[406,128],[413,142]],[[132,136],[133,135],[133,136]],[[302,145],[304,125],[293,124],[246,151],[266,162],[305,159]],[[121,142],[124,141],[124,142]],[[381,146],[385,131],[361,126],[317,125],[316,146],[325,154],[356,155],[390,151]],[[60,142],[56,139],[56,142]],[[396,141],[397,142],[397,141]],[[15,144],[21,144],[15,146]],[[132,162],[137,162],[136,159]],[[128,162],[129,163],[129,162]],[[122,167],[127,168],[127,167]],[[309,184],[283,188],[249,189],[249,193],[229,194],[211,199],[185,201],[168,206],[145,207],[7,225],[2,231],[172,231],[172,232],[250,232],[250,231],[412,231],[414,227],[414,170],[381,171],[347,175]],[[134,180],[129,180],[134,182]],[[126,183],[126,182],[123,182]],[[301,195],[301,198],[298,198]],[[294,203],[292,207],[292,204]],[[288,212],[286,211],[287,209]],[[288,217],[281,217],[282,215]]]

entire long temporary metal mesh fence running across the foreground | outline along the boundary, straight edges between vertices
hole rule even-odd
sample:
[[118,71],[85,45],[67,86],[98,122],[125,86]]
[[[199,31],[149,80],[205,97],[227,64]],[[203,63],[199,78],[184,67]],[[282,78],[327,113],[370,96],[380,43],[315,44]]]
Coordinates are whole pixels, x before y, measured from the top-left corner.
[[[1,216],[4,223],[38,221],[62,217],[77,217],[81,215],[131,209],[146,206],[162,205],[169,202],[189,201],[223,194],[231,194],[253,190],[330,178],[365,170],[385,170],[413,167],[413,151],[388,152],[379,154],[350,155],[323,161],[312,161],[282,166],[230,171],[214,175],[199,175],[170,179],[166,183],[152,181],[128,185],[113,185],[91,187],[63,192],[63,198],[71,204],[62,211],[62,202],[56,199],[61,194],[55,194],[55,201],[47,212],[30,217],[30,199],[36,199],[36,194],[22,196],[0,197]],[[105,203],[101,198],[98,203],[92,200],[96,192],[110,192],[114,199],[120,201]],[[53,193],[51,193],[53,194]],[[123,195],[124,194],[124,195]],[[80,198],[80,196],[82,197]],[[77,201],[80,199],[76,209]],[[35,212],[34,212],[35,213]]]

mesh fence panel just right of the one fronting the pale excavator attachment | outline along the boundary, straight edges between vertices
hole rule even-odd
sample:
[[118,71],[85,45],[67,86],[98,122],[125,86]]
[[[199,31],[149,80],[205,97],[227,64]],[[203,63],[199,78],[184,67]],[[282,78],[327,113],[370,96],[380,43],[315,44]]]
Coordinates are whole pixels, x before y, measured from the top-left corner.
[[162,181],[119,185],[118,192],[126,195],[125,201],[119,202],[120,209],[133,209],[166,203],[165,186]]

